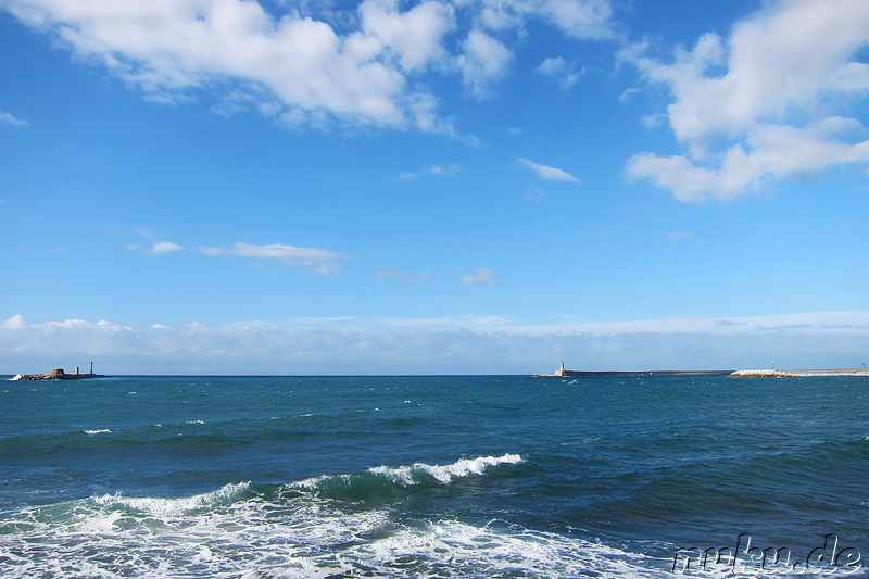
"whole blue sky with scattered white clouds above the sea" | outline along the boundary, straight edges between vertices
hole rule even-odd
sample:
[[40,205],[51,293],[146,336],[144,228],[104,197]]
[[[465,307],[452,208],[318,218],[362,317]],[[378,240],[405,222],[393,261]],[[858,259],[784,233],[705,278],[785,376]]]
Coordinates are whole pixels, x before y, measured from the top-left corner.
[[865,0],[0,0],[0,373],[869,362]]

